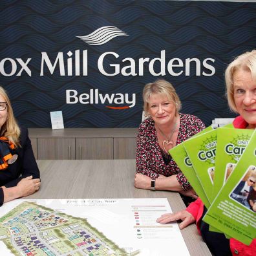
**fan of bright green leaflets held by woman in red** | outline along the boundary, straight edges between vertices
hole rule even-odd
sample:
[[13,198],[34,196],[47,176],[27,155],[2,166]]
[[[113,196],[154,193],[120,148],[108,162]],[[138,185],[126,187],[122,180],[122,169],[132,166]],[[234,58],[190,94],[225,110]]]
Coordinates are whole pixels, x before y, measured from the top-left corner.
[[208,128],[169,153],[208,208],[203,220],[250,244],[256,234],[256,130],[229,127]]

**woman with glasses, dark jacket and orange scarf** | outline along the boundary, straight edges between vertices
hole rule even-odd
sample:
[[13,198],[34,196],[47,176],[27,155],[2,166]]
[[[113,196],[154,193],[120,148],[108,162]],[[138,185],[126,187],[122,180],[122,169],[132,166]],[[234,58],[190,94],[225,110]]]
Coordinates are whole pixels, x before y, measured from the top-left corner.
[[0,87],[0,155],[0,206],[39,189],[40,174],[28,130],[17,125],[3,87]]

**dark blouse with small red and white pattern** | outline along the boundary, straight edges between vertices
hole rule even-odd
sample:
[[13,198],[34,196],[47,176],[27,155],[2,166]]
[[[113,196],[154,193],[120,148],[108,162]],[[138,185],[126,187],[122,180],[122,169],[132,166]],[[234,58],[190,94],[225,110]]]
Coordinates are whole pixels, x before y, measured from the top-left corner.
[[[184,142],[194,134],[205,128],[204,123],[191,114],[180,114],[180,127],[176,145]],[[151,177],[158,178],[159,175],[176,175],[180,186],[185,190],[191,189],[191,185],[180,171],[173,158],[169,164],[165,164],[158,144],[155,122],[152,118],[147,118],[140,124],[137,136],[136,149],[136,171]]]

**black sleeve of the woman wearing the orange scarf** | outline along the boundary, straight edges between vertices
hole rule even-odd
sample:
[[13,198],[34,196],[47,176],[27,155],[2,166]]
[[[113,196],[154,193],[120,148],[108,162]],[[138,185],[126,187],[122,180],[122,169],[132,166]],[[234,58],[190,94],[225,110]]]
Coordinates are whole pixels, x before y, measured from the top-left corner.
[[25,136],[23,138],[23,143],[21,144],[23,155],[22,158],[19,159],[19,161],[21,161],[19,164],[19,167],[21,168],[21,176],[5,184],[5,187],[14,187],[22,178],[26,178],[30,175],[32,175],[33,178],[40,178],[40,173],[36,164],[34,153],[32,151],[30,138],[28,138],[28,129],[22,128],[21,131],[24,133],[22,136]]

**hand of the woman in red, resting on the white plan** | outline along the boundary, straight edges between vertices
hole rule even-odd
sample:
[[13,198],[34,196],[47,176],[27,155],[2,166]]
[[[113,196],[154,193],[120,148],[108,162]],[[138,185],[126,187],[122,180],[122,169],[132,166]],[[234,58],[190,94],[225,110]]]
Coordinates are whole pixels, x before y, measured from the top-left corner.
[[160,218],[156,219],[156,222],[166,224],[175,220],[182,220],[179,225],[180,229],[186,228],[186,226],[195,222],[193,215],[186,210],[177,211],[176,213],[165,213]]

